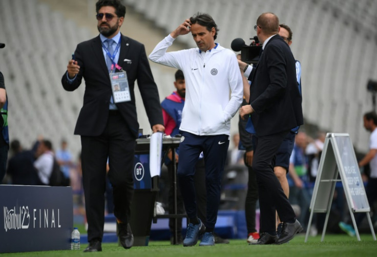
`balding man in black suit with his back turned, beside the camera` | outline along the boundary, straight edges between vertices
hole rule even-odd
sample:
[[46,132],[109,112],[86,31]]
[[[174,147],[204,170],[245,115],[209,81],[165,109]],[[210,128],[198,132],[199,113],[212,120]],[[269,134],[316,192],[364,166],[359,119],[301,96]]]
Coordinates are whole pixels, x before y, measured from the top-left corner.
[[[288,132],[303,124],[301,96],[297,87],[295,58],[289,46],[278,35],[279,18],[263,13],[255,26],[263,44],[256,69],[250,73],[252,81],[249,104],[240,109],[244,118],[251,114],[256,131],[253,169],[258,181],[262,233],[257,243],[282,244],[302,231],[295,212],[274,174],[275,154]],[[240,69],[247,71],[247,67]],[[283,222],[280,238],[276,235],[275,211]]]

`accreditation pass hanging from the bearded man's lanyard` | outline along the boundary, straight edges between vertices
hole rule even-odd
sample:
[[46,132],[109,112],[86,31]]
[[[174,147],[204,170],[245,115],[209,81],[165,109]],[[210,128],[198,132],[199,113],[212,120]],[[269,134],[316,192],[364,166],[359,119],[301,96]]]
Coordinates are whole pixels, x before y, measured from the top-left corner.
[[115,103],[131,101],[130,87],[125,71],[110,73],[110,81]]

